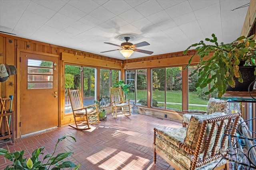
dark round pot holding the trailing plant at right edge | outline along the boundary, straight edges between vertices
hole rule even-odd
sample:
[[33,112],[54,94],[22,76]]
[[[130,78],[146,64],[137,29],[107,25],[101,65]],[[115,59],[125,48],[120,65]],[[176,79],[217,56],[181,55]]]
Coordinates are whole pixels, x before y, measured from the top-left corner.
[[[235,78],[236,86],[234,88],[228,85],[226,91],[248,91],[248,87],[250,86],[251,82],[256,80],[256,76],[254,75],[254,68],[256,66],[239,66],[239,70],[242,74],[242,78],[244,80],[243,83],[238,82],[238,79]],[[252,91],[254,86],[250,86],[250,91]]]

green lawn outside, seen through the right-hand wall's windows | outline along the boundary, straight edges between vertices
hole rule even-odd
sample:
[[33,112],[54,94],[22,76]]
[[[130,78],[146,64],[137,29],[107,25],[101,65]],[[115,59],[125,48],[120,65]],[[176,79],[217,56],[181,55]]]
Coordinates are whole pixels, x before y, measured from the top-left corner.
[[[146,98],[146,90],[137,90],[137,99]],[[128,95],[128,99],[134,100],[134,93]],[[164,91],[154,91],[153,99],[157,100],[158,107],[164,107]],[[177,103],[177,104],[168,104]],[[182,93],[181,91],[167,91],[166,92],[166,108],[182,111]],[[195,92],[189,92],[189,109],[206,110],[208,100],[201,100],[196,97]],[[193,106],[192,104],[206,105]]]

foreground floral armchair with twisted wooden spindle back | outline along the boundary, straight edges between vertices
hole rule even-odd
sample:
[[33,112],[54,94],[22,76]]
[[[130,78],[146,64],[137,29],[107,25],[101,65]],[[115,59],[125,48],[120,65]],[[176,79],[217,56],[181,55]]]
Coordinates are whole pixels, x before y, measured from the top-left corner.
[[[154,128],[154,163],[158,154],[175,170],[229,169],[220,148],[228,147],[224,134],[236,134],[240,116],[241,113],[212,113],[192,116],[188,127],[174,130]],[[229,125],[235,128],[231,129]]]

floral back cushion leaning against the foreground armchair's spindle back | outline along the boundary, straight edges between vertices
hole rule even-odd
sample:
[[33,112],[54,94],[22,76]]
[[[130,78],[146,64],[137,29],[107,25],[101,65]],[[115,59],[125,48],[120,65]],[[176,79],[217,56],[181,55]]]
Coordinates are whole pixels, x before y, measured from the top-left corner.
[[[202,122],[206,119],[210,119],[210,118],[218,117],[218,116],[222,116],[222,115],[226,115],[226,113],[216,112],[216,113],[212,113],[210,115],[199,115],[199,116],[194,115],[194,116],[192,116],[190,119],[189,125],[188,125],[188,130],[186,132],[186,137],[184,139],[184,145],[187,145],[188,147],[190,147],[190,149],[196,149],[196,144],[197,144],[197,141],[199,138]],[[205,136],[204,140],[207,140],[208,135],[210,133],[211,126],[212,126],[211,123],[207,124],[207,127],[206,127],[207,135]],[[205,146],[203,145],[202,150],[204,149],[204,147]],[[212,146],[210,146],[210,147],[212,147]],[[202,150],[201,150],[201,152],[202,152]]]

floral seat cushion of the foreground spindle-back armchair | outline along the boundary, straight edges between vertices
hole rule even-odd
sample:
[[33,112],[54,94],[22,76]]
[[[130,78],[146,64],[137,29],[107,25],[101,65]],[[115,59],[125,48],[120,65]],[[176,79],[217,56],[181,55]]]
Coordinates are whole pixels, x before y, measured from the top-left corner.
[[155,128],[156,133],[163,137],[165,140],[169,141],[176,147],[180,147],[180,145],[184,142],[184,139],[186,137],[186,127],[174,129],[174,130],[159,130]]

